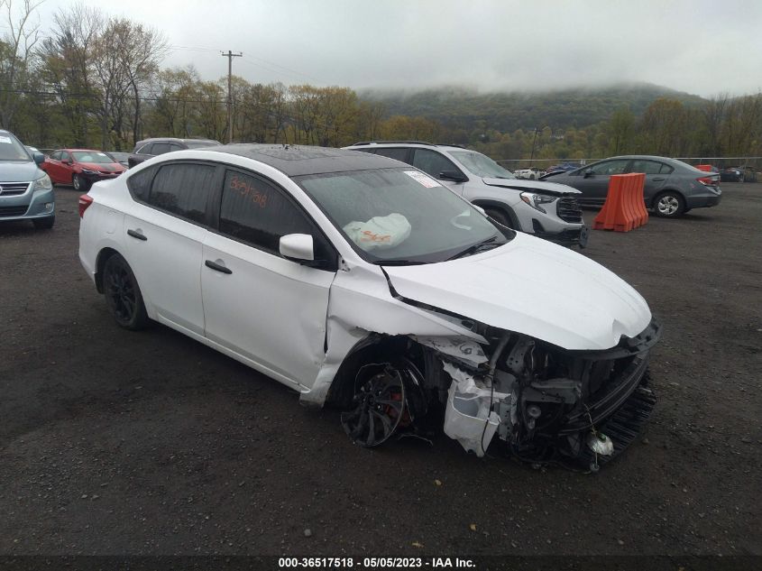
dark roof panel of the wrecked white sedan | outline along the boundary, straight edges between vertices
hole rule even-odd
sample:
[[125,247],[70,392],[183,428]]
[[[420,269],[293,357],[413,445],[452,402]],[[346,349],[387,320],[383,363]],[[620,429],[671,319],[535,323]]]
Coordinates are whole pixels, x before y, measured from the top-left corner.
[[368,152],[289,144],[235,143],[204,149],[260,161],[289,177],[347,170],[399,168],[400,162]]

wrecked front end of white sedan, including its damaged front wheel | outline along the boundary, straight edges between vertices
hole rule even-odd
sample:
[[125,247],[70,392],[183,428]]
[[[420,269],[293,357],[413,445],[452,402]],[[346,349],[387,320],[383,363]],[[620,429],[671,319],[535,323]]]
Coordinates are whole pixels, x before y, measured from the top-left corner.
[[637,437],[656,403],[647,387],[656,320],[604,351],[481,329],[487,345],[467,337],[387,339],[392,350],[384,354],[404,356],[356,369],[342,414],[347,434],[374,447],[394,436],[427,437],[438,426],[476,456],[502,441],[523,461],[597,471]]

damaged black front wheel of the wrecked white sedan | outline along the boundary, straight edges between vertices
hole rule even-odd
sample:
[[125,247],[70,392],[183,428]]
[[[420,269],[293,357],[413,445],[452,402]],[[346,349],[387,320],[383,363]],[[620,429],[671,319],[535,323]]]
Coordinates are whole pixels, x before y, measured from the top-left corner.
[[406,412],[405,382],[390,363],[366,364],[354,381],[352,408],[341,415],[342,426],[355,444],[377,447],[399,427]]

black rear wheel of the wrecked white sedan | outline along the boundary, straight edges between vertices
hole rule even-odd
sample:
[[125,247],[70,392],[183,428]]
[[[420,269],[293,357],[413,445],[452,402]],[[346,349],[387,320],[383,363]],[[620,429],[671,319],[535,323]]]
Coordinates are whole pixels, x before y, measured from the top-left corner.
[[108,309],[119,327],[137,331],[148,324],[138,281],[130,265],[118,253],[106,260],[103,290]]

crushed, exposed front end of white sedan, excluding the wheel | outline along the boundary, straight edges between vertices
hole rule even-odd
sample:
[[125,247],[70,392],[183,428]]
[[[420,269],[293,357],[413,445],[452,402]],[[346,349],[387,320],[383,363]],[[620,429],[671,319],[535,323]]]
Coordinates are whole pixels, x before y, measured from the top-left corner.
[[596,471],[638,436],[656,403],[647,364],[659,336],[652,320],[609,350],[566,351],[503,332],[476,367],[442,355],[452,378],[445,434],[477,456],[497,437],[521,460]]

